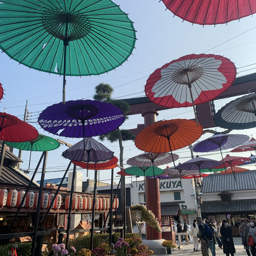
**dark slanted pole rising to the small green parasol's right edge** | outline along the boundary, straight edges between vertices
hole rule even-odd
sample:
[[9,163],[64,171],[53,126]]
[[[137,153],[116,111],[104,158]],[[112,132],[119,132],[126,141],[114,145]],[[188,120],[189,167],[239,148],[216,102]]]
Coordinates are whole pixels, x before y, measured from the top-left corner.
[[[42,166],[40,188],[39,188],[38,200],[37,200],[37,206],[36,206],[36,218],[35,218],[33,240],[32,240],[32,246],[31,246],[31,256],[35,256],[36,240],[37,240],[36,238],[37,238],[37,232],[38,232],[40,206],[41,206],[42,193],[43,193],[43,187],[44,187],[44,175],[45,175],[45,169],[46,169],[47,155],[48,155],[48,152],[44,151],[44,162],[43,162],[43,166]],[[36,256],[38,256],[38,255],[36,255]]]

